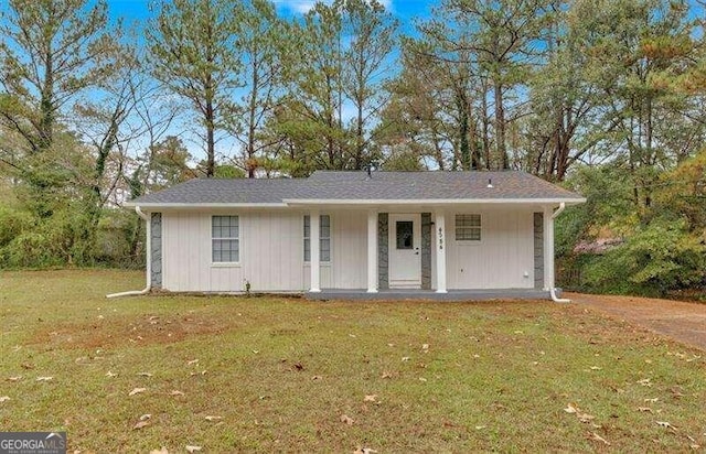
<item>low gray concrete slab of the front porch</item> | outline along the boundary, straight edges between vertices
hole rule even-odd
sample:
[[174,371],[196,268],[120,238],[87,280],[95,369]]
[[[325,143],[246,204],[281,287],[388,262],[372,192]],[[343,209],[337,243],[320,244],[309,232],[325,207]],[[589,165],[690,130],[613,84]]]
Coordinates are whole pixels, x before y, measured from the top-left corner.
[[536,289],[489,289],[489,290],[449,290],[436,293],[434,290],[381,290],[367,293],[365,289],[341,290],[323,289],[321,292],[304,293],[308,300],[431,300],[431,301],[490,301],[490,300],[550,300],[549,292]]

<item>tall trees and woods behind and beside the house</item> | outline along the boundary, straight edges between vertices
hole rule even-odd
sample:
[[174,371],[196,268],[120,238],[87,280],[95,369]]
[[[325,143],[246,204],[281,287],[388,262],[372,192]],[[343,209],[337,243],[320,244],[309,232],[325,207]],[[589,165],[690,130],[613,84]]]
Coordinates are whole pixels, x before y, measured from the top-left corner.
[[376,0],[0,9],[0,267],[140,266],[126,199],[373,164],[582,193],[557,228],[573,285],[706,283],[700,0],[442,0],[407,26]]

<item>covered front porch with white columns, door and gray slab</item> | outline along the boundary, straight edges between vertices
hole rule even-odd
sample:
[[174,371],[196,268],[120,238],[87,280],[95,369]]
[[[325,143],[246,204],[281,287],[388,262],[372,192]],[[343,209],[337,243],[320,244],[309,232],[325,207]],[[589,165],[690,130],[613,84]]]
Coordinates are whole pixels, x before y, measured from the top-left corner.
[[[554,209],[550,206],[303,208],[307,219],[311,219],[307,225],[308,245],[311,245],[307,257],[311,260],[304,267],[303,285],[311,299],[550,298],[549,289],[554,287]],[[354,227],[342,229],[339,225],[332,240],[331,226],[336,225],[336,216],[351,212],[355,216],[345,219],[347,226]],[[325,263],[319,260],[322,218],[325,219]],[[353,260],[347,260],[349,257]],[[342,279],[346,272],[353,277]],[[315,295],[320,292],[323,295]],[[376,292],[382,294],[360,295]],[[441,296],[446,293],[451,295]]]

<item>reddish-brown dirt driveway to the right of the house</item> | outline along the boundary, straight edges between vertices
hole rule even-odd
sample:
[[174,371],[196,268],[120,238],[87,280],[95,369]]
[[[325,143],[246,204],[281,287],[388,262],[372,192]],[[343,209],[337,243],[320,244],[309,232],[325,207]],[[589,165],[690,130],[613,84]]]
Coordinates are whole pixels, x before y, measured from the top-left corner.
[[575,303],[706,350],[706,304],[582,293],[565,295]]

